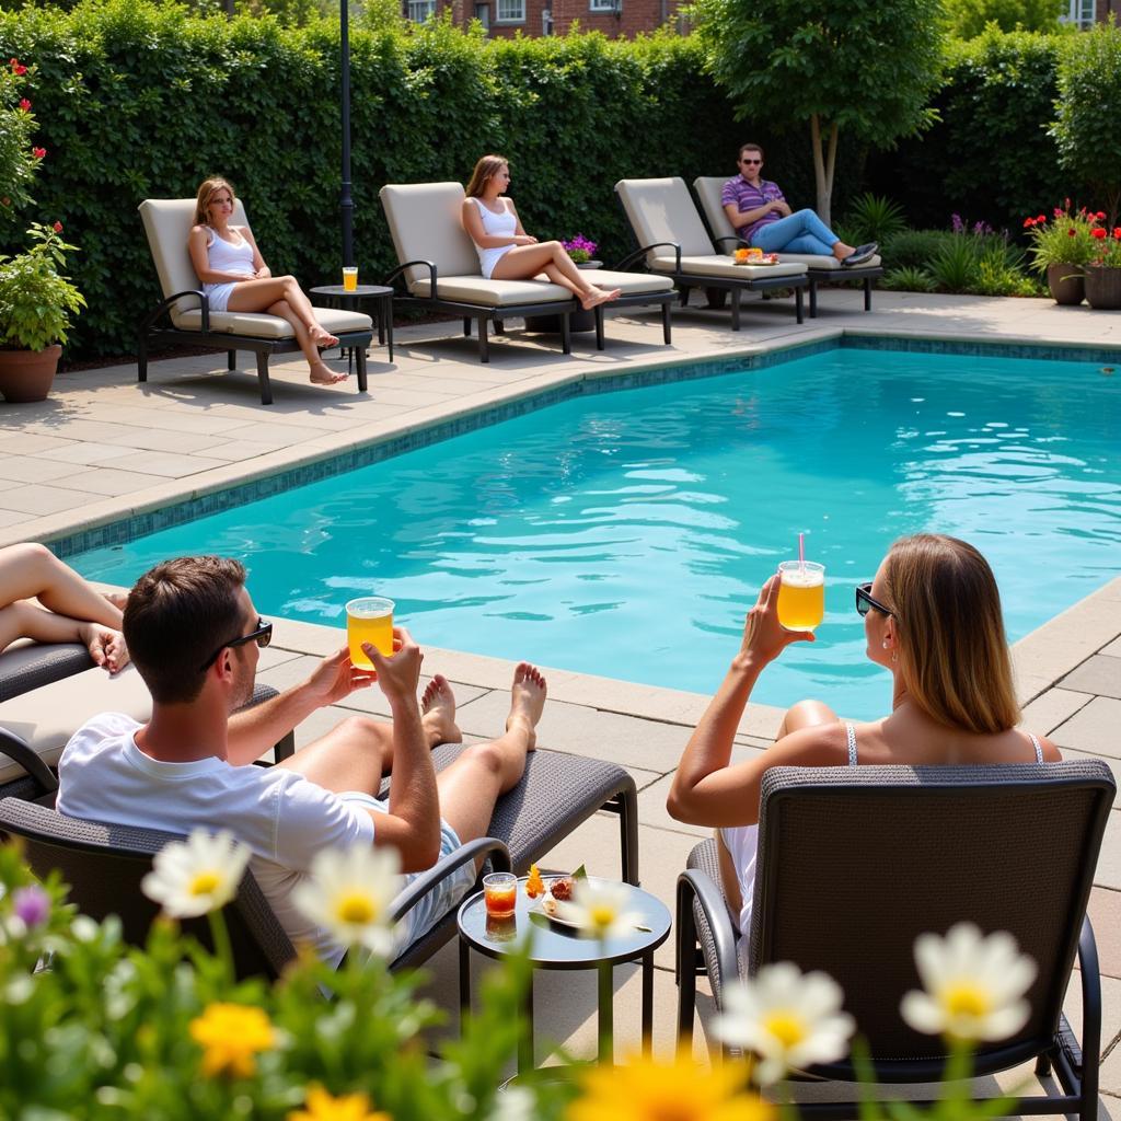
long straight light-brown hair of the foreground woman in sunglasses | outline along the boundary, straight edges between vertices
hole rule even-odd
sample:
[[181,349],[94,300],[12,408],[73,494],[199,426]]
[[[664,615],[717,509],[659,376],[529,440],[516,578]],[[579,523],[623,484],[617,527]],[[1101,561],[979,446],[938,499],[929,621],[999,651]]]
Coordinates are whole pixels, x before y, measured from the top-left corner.
[[901,537],[883,567],[904,687],[928,715],[970,732],[1020,720],[1000,593],[989,562],[942,534]]

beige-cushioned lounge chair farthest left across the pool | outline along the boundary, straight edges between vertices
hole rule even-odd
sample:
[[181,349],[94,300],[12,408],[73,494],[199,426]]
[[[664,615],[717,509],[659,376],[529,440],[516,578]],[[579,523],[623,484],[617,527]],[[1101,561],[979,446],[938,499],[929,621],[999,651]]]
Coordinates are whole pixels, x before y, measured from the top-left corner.
[[[187,252],[194,221],[194,198],[146,198],[140,204],[148,245],[151,249],[164,298],[147,315],[137,333],[137,380],[148,380],[148,351],[166,346],[213,346],[228,352],[229,369],[237,369],[238,351],[257,355],[257,380],[261,404],[272,404],[269,356],[298,351],[291,324],[277,315],[210,311],[210,302]],[[234,225],[248,225],[241,200],[234,203]],[[358,312],[317,307],[319,323],[339,336],[342,348],[353,348],[358,364],[358,389],[365,392],[365,349],[373,337],[372,319]]]

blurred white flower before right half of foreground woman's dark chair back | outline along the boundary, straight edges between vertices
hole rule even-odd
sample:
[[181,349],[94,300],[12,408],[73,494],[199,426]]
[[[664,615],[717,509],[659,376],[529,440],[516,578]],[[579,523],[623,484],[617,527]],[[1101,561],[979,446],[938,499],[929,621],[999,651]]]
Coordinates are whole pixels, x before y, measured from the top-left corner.
[[920,934],[915,963],[926,992],[907,993],[900,1012],[916,1031],[995,1043],[1027,1023],[1022,998],[1036,963],[1007,932],[985,937],[972,923],[958,923],[945,938]]

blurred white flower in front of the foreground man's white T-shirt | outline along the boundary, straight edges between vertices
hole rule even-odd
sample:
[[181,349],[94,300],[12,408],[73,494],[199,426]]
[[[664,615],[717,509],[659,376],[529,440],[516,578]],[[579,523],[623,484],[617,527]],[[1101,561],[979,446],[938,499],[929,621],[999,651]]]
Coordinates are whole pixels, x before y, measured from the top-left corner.
[[313,859],[293,901],[344,946],[365,946],[386,957],[393,949],[389,908],[404,886],[400,868],[393,849],[326,849]]

